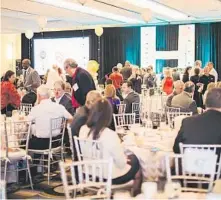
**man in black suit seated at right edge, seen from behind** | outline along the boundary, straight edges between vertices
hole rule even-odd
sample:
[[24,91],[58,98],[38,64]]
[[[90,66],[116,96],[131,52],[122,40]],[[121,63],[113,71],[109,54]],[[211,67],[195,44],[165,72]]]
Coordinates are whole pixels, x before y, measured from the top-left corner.
[[206,112],[183,120],[173,151],[180,153],[179,143],[221,144],[221,88],[208,92]]

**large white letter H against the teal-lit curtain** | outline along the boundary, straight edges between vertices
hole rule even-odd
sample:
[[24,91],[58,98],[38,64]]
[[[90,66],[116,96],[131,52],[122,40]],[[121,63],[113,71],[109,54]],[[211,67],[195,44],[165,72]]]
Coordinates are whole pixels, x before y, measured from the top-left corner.
[[178,59],[179,68],[193,65],[195,60],[195,25],[180,25],[177,51],[156,50],[156,27],[141,28],[141,67],[152,65],[157,59]]

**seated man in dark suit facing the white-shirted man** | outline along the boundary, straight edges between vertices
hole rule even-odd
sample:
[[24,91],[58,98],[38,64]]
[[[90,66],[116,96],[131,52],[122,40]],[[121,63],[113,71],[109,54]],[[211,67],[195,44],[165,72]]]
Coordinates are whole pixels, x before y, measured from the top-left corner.
[[51,98],[53,102],[59,103],[65,107],[65,109],[74,116],[75,108],[72,106],[71,95],[65,93],[65,83],[63,81],[56,81],[54,83],[54,96]]

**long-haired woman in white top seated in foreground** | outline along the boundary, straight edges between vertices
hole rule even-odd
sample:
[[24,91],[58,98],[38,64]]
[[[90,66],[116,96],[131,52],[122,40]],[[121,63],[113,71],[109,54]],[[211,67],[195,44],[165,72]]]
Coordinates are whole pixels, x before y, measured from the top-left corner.
[[136,195],[140,192],[142,182],[139,161],[135,155],[131,155],[129,159],[124,154],[117,133],[107,128],[111,119],[112,107],[108,100],[97,101],[91,108],[87,123],[81,128],[79,137],[101,142],[103,158],[113,158],[112,183],[125,184],[134,179],[133,189],[134,195]]

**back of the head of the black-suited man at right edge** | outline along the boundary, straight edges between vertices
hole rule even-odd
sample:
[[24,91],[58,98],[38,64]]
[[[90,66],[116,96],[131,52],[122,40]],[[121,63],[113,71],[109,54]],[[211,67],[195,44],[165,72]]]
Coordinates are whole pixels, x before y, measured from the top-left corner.
[[207,109],[221,112],[221,88],[213,88],[207,93],[205,105]]

